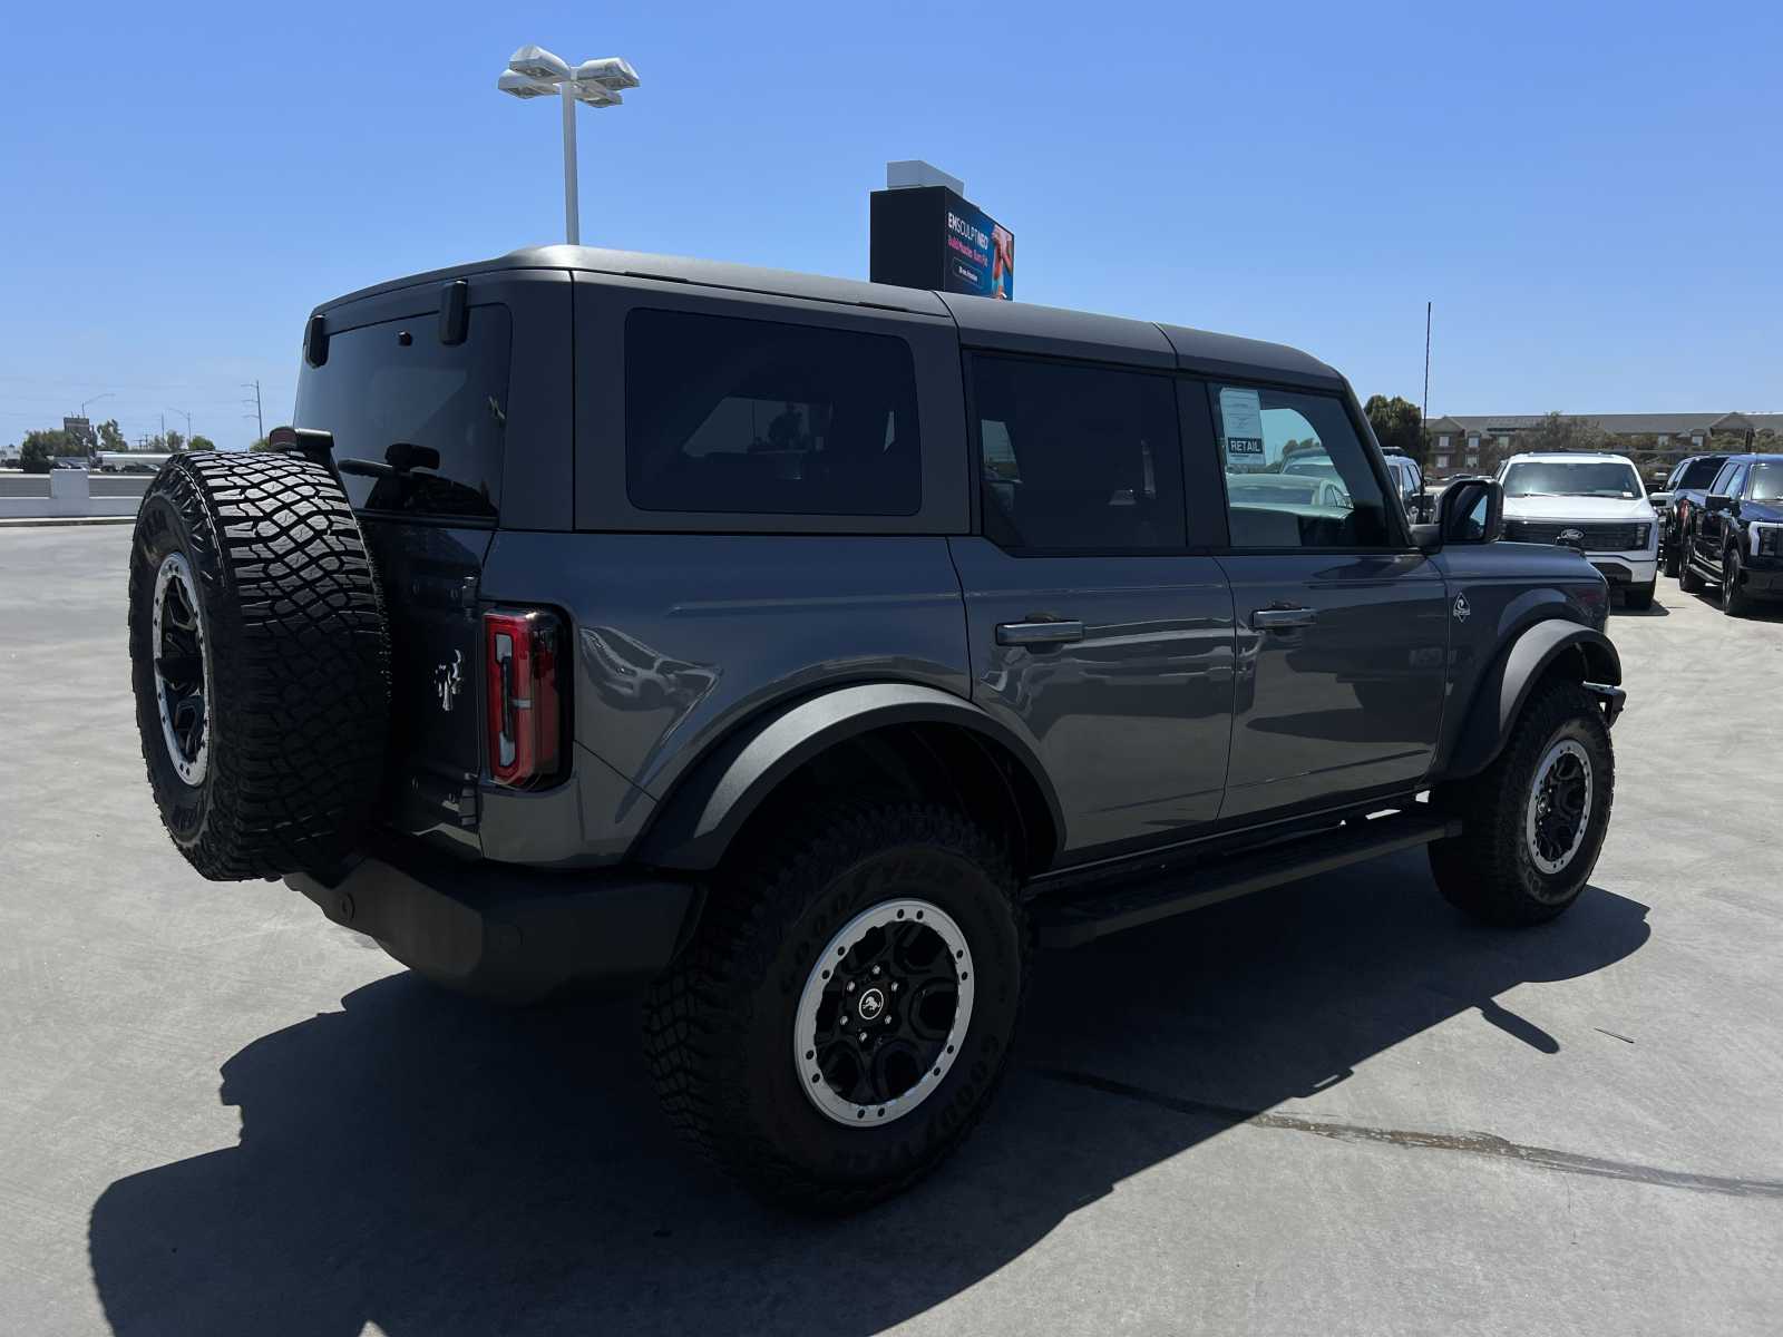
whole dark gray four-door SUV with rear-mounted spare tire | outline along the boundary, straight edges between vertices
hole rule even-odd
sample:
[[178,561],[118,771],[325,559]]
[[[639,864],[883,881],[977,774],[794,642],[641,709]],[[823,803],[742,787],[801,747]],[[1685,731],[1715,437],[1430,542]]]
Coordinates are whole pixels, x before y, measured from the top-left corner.
[[1603,578],[1491,480],[1410,524],[1291,348],[544,248],[319,307],[271,446],[136,528],[173,841],[456,989],[647,988],[781,1202],[965,1137],[1034,945],[1410,847],[1539,923],[1605,836]]

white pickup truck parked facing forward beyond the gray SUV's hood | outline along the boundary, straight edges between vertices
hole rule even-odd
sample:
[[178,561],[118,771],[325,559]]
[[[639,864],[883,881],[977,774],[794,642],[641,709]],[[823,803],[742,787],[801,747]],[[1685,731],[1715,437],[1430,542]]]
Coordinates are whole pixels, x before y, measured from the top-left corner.
[[1505,538],[1580,547],[1628,608],[1658,585],[1658,517],[1624,455],[1514,455],[1500,465]]

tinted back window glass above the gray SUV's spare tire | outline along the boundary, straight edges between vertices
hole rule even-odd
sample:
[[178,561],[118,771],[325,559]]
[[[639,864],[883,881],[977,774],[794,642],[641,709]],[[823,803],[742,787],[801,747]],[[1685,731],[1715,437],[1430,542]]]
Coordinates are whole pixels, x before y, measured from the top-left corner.
[[298,376],[292,422],[333,433],[337,462],[392,467],[342,471],[358,510],[494,521],[510,342],[506,307],[472,307],[462,344],[439,340],[433,312],[330,333],[328,360]]

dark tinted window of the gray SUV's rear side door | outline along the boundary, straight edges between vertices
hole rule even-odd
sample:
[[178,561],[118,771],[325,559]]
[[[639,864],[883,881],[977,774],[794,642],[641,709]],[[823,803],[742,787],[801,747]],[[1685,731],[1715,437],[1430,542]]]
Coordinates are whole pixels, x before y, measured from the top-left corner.
[[1168,376],[977,357],[972,390],[988,538],[1063,553],[1184,545]]

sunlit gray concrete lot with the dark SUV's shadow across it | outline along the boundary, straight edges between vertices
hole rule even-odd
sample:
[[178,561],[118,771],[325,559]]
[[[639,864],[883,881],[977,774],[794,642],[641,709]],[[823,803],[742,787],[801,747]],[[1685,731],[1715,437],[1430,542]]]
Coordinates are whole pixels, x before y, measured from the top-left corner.
[[0,533],[0,1332],[1778,1330],[1776,613],[1615,613],[1558,923],[1473,927],[1417,854],[1043,956],[974,1141],[824,1223],[676,1143],[633,1005],[490,1011],[200,881],[128,542]]

